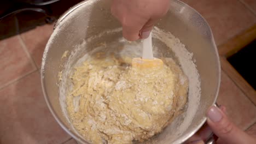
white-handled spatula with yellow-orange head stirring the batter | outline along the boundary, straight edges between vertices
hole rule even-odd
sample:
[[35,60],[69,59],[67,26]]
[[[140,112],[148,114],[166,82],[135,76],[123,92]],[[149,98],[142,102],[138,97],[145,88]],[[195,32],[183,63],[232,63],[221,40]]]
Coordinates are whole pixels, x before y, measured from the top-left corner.
[[147,39],[143,40],[142,47],[142,58],[133,58],[132,67],[139,69],[161,68],[163,65],[162,60],[153,57],[152,33],[149,34]]

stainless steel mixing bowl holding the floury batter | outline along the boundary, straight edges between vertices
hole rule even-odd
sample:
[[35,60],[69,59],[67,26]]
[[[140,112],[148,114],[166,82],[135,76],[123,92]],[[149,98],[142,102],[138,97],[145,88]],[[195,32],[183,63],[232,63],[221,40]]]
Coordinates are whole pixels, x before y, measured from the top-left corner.
[[[205,113],[217,99],[220,85],[219,56],[210,27],[203,17],[193,8],[177,0],[171,0],[167,15],[157,23],[159,28],[171,32],[193,52],[193,58],[201,79],[201,98],[199,109],[189,127],[176,137],[168,131],[149,143],[182,143],[205,123]],[[42,87],[46,103],[56,121],[75,140],[88,143],[75,133],[63,115],[58,88],[58,72],[61,69],[62,55],[72,51],[84,39],[105,31],[120,27],[120,23],[110,13],[110,2],[106,0],[89,0],[81,2],[69,9],[56,22],[43,55]],[[121,34],[119,34],[121,37]],[[111,37],[106,39],[111,40]],[[93,46],[92,46],[93,47]],[[189,102],[188,102],[189,103]],[[178,128],[177,128],[178,130]],[[161,139],[160,141],[157,141]]]

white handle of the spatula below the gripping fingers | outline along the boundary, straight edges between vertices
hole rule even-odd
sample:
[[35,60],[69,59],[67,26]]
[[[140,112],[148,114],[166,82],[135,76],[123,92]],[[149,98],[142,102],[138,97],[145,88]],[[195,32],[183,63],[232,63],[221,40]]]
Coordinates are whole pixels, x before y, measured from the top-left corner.
[[142,47],[142,59],[154,59],[152,49],[152,32],[150,32],[148,38],[143,40]]

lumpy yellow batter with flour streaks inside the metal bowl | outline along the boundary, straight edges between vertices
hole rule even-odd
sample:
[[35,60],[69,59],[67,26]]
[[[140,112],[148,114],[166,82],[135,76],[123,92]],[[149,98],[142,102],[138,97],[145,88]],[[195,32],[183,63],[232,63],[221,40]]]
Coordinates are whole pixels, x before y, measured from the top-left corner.
[[131,59],[96,53],[74,68],[67,112],[91,143],[148,140],[187,103],[187,76],[171,58],[159,69],[132,68]]

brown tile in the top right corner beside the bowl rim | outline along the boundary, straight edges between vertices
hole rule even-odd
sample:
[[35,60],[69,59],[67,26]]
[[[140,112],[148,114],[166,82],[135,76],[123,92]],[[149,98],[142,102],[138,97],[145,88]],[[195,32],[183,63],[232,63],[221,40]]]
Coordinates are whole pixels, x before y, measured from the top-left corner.
[[217,45],[225,43],[256,22],[256,17],[238,0],[184,1],[205,17]]

